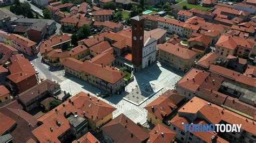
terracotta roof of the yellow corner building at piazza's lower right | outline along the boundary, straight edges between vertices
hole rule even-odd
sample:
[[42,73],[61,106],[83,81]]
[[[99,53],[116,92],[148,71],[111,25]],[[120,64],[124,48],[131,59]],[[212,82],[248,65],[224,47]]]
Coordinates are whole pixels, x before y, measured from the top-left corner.
[[145,106],[145,109],[158,117],[160,120],[166,119],[171,113],[178,109],[177,106],[185,97],[177,93],[176,90],[167,90],[163,95],[154,99],[150,104]]

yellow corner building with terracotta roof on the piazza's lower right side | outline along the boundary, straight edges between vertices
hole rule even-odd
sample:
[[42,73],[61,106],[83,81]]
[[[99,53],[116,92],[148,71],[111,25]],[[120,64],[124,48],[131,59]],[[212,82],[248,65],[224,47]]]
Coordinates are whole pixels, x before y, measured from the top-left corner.
[[177,109],[185,103],[185,96],[178,94],[177,90],[167,90],[163,95],[145,106],[147,121],[157,125],[167,123],[175,115]]

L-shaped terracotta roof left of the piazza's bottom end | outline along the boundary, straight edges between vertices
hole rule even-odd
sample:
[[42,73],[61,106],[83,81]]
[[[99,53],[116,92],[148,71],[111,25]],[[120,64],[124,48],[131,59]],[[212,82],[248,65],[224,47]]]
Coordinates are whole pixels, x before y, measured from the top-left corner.
[[[69,115],[69,113],[75,115],[75,111],[77,111],[78,116],[86,116],[97,123],[116,110],[116,108],[110,104],[98,100],[96,97],[90,96],[85,92],[79,92],[79,94],[71,98],[71,101],[72,103],[65,101],[62,105],[57,106],[54,110],[38,118],[38,121],[41,121],[43,124],[33,130],[32,133],[40,142],[47,142],[49,140],[52,142],[60,142],[58,140],[59,135],[62,135],[70,128],[69,120],[66,119],[63,114],[64,111],[66,115]],[[55,110],[57,110],[57,112]],[[56,119],[62,123],[58,128],[56,128]],[[53,127],[53,131],[50,130],[50,127]]]

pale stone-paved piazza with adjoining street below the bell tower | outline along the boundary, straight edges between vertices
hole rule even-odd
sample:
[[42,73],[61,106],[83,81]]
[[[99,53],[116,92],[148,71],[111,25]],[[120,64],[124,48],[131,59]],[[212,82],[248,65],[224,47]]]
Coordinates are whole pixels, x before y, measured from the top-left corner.
[[[52,69],[52,71],[46,72],[46,70],[48,70],[48,66],[42,64],[39,58],[31,62],[33,62],[35,67],[38,69],[39,77],[51,77],[51,80],[58,80],[62,90],[70,92],[72,96],[78,94],[81,91],[90,93],[91,95],[95,96],[97,92],[101,91],[100,89],[83,80],[80,80],[77,77],[66,75],[64,76],[64,70],[62,68]],[[41,63],[40,65],[42,66],[39,66],[38,63]],[[162,66],[159,62],[155,62],[150,67],[135,73],[134,80],[126,85],[125,91],[123,91],[122,94],[111,95],[110,97],[104,98],[103,101],[117,108],[117,110],[113,112],[114,117],[124,113],[124,115],[129,117],[135,123],[144,124],[147,119],[147,111],[144,109],[144,106],[159,97],[159,95],[163,94],[166,90],[173,89],[174,84],[180,80],[183,75],[184,73],[180,71],[167,68],[166,66]],[[129,95],[132,89],[136,88],[136,85],[138,85],[140,90],[144,93],[143,98],[152,95],[153,92],[158,92],[137,106],[123,99],[123,97]]]

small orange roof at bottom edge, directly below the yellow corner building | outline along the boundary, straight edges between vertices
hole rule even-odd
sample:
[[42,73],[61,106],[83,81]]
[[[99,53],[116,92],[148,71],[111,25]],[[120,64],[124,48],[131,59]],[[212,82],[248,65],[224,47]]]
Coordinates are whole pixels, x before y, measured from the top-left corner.
[[166,127],[162,124],[157,124],[151,131],[150,131],[150,138],[147,140],[147,142],[150,143],[158,143],[163,142],[167,143],[172,141],[177,133],[173,132],[169,129],[169,127]]

